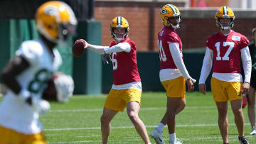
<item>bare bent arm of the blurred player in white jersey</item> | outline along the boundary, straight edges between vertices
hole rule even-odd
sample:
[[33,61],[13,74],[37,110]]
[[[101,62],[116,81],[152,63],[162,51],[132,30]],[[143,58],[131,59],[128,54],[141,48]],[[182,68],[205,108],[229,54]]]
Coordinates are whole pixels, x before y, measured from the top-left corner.
[[9,62],[1,74],[1,79],[4,84],[11,89],[14,93],[21,92],[21,85],[18,83],[16,77],[24,70],[30,67],[28,61],[22,56],[14,56]]

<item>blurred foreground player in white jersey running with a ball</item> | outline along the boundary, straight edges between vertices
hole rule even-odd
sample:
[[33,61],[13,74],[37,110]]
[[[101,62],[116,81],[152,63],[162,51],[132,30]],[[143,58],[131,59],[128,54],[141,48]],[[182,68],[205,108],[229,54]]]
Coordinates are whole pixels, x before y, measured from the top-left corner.
[[[38,40],[21,43],[13,59],[4,67],[1,79],[9,88],[0,105],[1,144],[44,144],[45,135],[39,115],[50,109],[42,93],[53,72],[62,65],[62,58],[55,45],[65,43],[75,32],[77,20],[70,6],[60,1],[48,1],[36,11]],[[56,82],[65,90],[73,86],[70,77]],[[67,92],[67,91],[65,91]],[[73,89],[63,95],[70,96]],[[65,101],[65,99],[59,99]]]

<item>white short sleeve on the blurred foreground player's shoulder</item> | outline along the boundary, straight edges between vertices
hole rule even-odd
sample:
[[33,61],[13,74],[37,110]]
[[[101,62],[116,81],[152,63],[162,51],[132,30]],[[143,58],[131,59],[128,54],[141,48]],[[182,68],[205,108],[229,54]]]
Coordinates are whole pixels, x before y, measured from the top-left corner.
[[[24,57],[31,65],[36,65],[38,63],[38,53],[40,53],[38,45],[38,43],[25,41],[16,50],[16,55]],[[39,46],[41,47],[41,45]]]

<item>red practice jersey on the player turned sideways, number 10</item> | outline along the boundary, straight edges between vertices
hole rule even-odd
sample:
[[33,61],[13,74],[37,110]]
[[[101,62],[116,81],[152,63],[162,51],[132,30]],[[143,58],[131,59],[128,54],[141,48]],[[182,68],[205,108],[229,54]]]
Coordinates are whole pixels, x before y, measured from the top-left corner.
[[162,69],[177,69],[173,57],[171,56],[169,43],[178,43],[179,51],[182,56],[182,43],[181,38],[172,28],[167,28],[164,26],[159,32],[157,45],[159,48],[159,58],[160,58],[160,70]]

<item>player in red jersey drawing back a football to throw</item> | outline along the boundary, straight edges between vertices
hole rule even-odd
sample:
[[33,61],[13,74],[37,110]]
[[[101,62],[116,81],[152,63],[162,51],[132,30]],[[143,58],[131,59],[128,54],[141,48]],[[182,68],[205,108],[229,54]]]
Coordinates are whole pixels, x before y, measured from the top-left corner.
[[110,46],[92,45],[86,43],[85,48],[104,55],[107,62],[110,55],[113,65],[114,84],[105,101],[101,121],[102,144],[107,144],[110,135],[110,121],[119,112],[127,107],[127,114],[134,124],[137,133],[144,143],[149,144],[146,127],[139,118],[138,113],[141,104],[142,83],[137,67],[137,52],[134,41],[130,40],[129,23],[122,17],[117,16],[110,23],[110,32],[114,41]]

